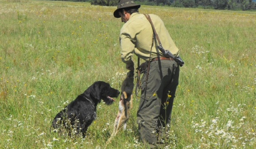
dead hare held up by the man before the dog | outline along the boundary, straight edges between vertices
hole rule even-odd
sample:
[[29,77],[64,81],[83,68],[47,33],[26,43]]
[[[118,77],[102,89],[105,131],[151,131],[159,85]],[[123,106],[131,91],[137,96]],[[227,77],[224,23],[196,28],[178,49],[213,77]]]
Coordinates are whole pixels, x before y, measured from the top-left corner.
[[114,129],[110,140],[116,136],[118,130],[122,125],[124,125],[124,130],[126,129],[126,123],[130,116],[130,109],[132,109],[132,99],[133,99],[133,87],[134,87],[134,71],[129,71],[127,73],[126,79],[124,79],[121,86],[121,97],[119,101],[118,114],[116,120],[114,121]]

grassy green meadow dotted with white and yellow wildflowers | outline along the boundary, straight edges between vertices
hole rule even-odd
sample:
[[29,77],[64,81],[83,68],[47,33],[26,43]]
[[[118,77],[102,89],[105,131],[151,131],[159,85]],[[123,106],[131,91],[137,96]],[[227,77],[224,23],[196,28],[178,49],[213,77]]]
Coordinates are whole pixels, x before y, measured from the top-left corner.
[[[0,148],[145,148],[136,123],[139,98],[128,129],[107,147],[118,98],[98,105],[85,138],[49,132],[57,112],[93,82],[120,89],[127,70],[120,59],[123,23],[114,10],[85,2],[0,0]],[[185,61],[164,148],[256,148],[256,12],[139,11],[162,18]]]

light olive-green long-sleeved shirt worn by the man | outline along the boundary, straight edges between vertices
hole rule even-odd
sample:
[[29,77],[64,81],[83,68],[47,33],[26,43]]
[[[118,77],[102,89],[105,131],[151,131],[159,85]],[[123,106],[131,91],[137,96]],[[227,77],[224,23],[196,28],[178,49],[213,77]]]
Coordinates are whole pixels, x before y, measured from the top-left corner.
[[[153,14],[150,18],[154,24],[156,33],[164,49],[168,49],[174,56],[179,55],[179,50],[174,41],[170,37],[169,32],[165,28],[164,22]],[[121,59],[124,63],[132,61],[133,53],[146,61],[150,58],[150,50],[152,46],[153,29],[145,15],[140,13],[132,13],[129,20],[123,25],[120,31],[119,41],[121,45]],[[161,51],[157,49],[157,45],[152,47],[151,58],[162,57]]]

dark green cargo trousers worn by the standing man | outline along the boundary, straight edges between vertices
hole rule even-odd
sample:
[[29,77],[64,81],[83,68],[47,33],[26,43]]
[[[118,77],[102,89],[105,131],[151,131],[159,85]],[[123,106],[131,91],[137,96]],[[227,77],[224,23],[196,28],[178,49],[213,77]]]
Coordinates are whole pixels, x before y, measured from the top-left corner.
[[180,68],[174,60],[150,62],[148,81],[142,77],[142,92],[137,111],[140,139],[152,148],[161,133],[170,127],[172,105],[178,85]]

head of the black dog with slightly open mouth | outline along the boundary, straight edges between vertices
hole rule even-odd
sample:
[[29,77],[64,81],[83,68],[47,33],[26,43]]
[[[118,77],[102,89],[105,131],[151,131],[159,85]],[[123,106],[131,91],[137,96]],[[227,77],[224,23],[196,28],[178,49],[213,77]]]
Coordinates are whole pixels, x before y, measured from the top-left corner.
[[112,88],[110,84],[103,81],[96,81],[90,86],[90,95],[98,103],[102,99],[107,105],[110,105],[115,101],[113,97],[117,97],[119,93],[119,90]]

